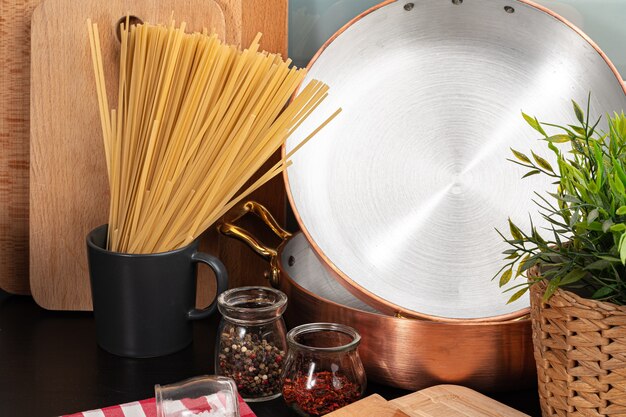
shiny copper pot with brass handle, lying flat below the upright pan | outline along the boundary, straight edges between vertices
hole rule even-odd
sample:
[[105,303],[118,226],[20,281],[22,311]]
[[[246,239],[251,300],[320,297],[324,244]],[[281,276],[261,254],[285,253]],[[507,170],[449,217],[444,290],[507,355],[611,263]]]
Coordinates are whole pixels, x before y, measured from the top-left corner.
[[[528,317],[503,322],[436,322],[365,311],[319,261],[302,233],[283,230],[254,202],[243,204],[220,231],[247,243],[270,263],[272,286],[289,297],[285,320],[290,327],[336,322],[362,336],[359,354],[371,381],[408,390],[435,384],[460,384],[480,391],[519,390],[535,384],[531,325]],[[233,222],[258,215],[281,238],[277,249],[265,246]],[[333,300],[323,298],[325,294]]]

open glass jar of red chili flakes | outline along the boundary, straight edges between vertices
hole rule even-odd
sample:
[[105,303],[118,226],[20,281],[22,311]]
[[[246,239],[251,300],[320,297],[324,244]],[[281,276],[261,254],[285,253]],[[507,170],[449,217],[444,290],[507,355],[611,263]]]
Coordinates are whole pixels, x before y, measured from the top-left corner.
[[363,397],[365,369],[352,327],[309,323],[287,333],[283,398],[301,416],[322,416]]

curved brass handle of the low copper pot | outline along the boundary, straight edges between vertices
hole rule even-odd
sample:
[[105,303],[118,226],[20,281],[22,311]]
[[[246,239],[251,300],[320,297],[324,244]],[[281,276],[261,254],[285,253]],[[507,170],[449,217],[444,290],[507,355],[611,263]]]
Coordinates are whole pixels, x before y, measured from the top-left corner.
[[278,252],[276,249],[263,244],[250,232],[239,226],[235,226],[234,224],[237,220],[241,219],[248,213],[255,214],[263,220],[263,223],[265,223],[276,234],[276,236],[281,238],[283,241],[291,237],[291,233],[280,227],[269,210],[255,201],[247,201],[237,209],[231,211],[228,215],[224,216],[218,224],[217,230],[225,236],[230,236],[244,242],[250,246],[254,252],[259,254],[263,259],[267,260],[270,264],[270,271],[269,273],[266,273],[266,278],[269,279],[272,287],[278,287],[278,284],[280,283],[280,268],[278,268]]

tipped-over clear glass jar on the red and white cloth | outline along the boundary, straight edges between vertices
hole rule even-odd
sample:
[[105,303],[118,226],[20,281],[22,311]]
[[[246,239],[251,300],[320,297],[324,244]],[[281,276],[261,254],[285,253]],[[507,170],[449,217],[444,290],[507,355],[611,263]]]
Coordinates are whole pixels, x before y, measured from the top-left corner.
[[199,376],[155,385],[157,417],[239,417],[237,387],[230,378]]

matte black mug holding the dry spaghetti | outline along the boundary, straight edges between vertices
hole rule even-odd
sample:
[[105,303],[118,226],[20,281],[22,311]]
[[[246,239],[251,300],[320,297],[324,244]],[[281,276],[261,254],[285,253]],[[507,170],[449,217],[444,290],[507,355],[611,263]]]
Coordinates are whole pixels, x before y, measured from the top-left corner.
[[[125,254],[106,250],[107,225],[87,235],[96,337],[116,355],[149,358],[189,345],[191,320],[210,316],[217,302],[196,309],[198,262],[217,280],[217,295],[228,288],[224,265],[198,252],[198,241],[169,252]],[[217,300],[217,296],[216,296]]]

